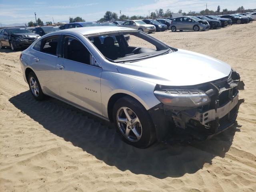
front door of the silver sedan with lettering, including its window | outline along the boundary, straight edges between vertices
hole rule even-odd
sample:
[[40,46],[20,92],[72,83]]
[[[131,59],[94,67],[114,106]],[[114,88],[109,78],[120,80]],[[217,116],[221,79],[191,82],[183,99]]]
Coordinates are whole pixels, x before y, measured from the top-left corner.
[[63,36],[61,49],[63,54],[57,61],[61,98],[102,115],[102,68],[84,43],[74,36]]

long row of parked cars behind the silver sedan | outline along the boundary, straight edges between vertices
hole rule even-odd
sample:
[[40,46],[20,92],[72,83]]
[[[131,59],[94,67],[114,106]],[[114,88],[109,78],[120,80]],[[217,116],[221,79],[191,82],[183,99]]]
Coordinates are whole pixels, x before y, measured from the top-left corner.
[[[256,19],[256,12],[238,13],[229,15],[206,15],[206,16],[182,16],[177,18],[158,18],[144,20],[125,20],[110,22],[75,22],[62,26],[40,26],[24,28],[5,28],[0,31],[0,48],[10,47],[13,51],[28,47],[40,36],[58,30],[90,27],[90,26],[122,26],[134,28],[146,33],[156,31],[171,30],[206,30],[210,28],[220,28],[232,24],[244,24]],[[127,37],[128,38],[128,37]]]

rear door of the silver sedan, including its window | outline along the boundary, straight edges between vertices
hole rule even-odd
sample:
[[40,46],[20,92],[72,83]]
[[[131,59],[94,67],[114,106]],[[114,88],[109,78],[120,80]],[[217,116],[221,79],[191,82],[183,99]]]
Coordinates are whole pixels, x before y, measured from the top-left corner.
[[60,35],[47,36],[40,39],[33,46],[28,63],[36,73],[44,92],[52,96],[60,96],[58,80],[56,76],[56,61],[58,58],[58,46]]

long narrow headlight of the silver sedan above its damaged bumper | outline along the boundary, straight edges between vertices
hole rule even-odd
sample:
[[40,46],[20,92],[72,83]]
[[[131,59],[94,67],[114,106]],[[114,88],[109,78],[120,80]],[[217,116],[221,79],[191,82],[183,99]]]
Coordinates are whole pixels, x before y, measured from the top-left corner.
[[211,101],[201,90],[155,90],[154,95],[163,104],[176,107],[199,107]]

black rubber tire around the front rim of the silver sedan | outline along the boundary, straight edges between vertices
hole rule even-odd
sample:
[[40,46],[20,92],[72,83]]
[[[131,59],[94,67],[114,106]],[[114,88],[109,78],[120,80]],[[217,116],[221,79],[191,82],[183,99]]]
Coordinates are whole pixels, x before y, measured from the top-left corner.
[[[132,110],[140,120],[141,137],[138,141],[130,141],[120,130],[120,122],[117,120],[118,112],[121,108],[126,107]],[[116,101],[113,108],[113,119],[117,132],[121,135],[124,142],[138,148],[146,148],[156,140],[155,126],[147,110],[136,99],[130,96],[124,96]],[[128,123],[123,123],[124,125]],[[131,130],[130,130],[131,131]],[[131,134],[133,134],[131,132]]]

